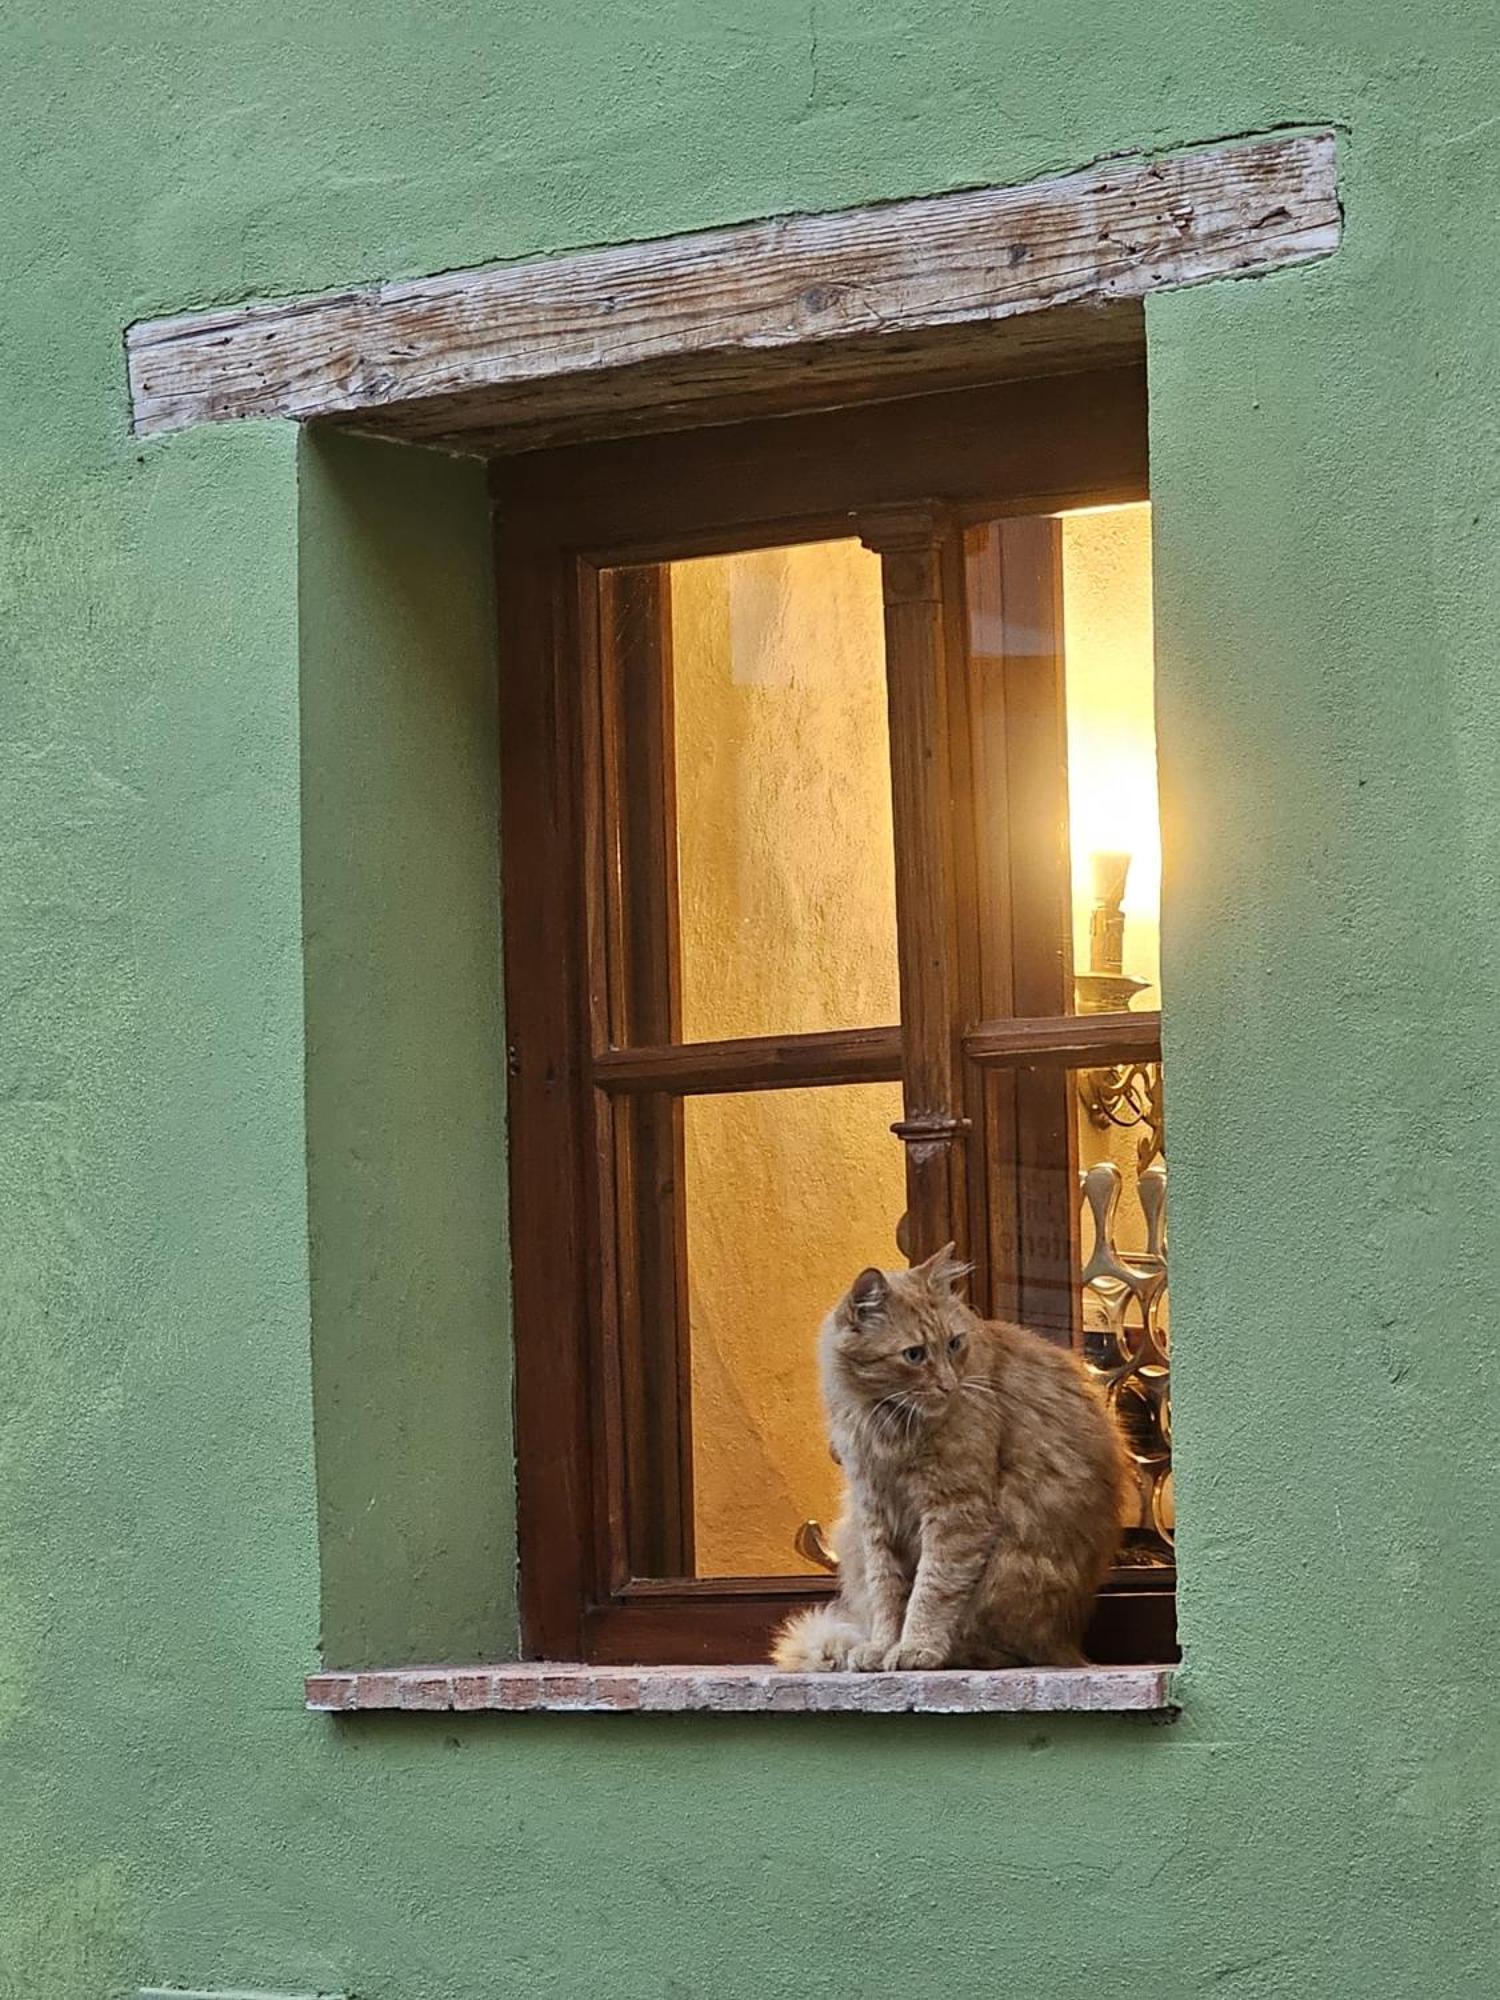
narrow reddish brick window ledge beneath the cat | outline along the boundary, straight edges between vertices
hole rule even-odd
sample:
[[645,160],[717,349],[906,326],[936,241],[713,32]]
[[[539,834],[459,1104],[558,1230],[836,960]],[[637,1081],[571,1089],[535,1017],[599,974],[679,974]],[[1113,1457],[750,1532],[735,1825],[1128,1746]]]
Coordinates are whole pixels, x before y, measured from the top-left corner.
[[770,1666],[404,1666],[310,1674],[308,1708],[504,1714],[1168,1714],[1170,1666],[782,1674]]

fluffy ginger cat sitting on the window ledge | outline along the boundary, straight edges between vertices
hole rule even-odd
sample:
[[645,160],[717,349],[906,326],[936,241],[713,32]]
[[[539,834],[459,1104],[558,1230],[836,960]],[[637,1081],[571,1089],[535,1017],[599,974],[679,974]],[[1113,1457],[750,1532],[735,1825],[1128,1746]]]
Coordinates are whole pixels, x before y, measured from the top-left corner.
[[820,1336],[848,1494],[838,1596],[776,1636],[802,1672],[1080,1666],[1124,1452],[1084,1366],[958,1298],[952,1244],[866,1270]]

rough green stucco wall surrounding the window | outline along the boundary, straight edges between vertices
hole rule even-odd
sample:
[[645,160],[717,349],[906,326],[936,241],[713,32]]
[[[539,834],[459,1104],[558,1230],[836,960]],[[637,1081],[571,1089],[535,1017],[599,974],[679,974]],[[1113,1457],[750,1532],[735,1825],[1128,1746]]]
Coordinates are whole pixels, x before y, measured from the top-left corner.
[[[4,22],[0,1996],[1500,1988],[1490,10],[10,0]],[[332,1546],[370,1474],[326,1422],[356,1358],[336,1258],[348,1278],[374,1234],[348,1174],[400,1156],[414,1084],[318,1124],[304,1058],[360,980],[332,936],[304,988],[302,872],[310,916],[342,870],[396,930],[340,1058],[376,1082],[422,1012],[400,946],[424,880],[450,858],[490,908],[484,722],[452,706],[488,630],[482,524],[462,474],[430,474],[438,616],[380,474],[278,426],[132,444],[124,324],[1284,120],[1342,128],[1344,248],[1148,314],[1182,1722],[306,1716],[320,1504]],[[454,758],[474,814],[448,800],[426,844],[392,842],[414,876],[386,890],[330,822],[340,788],[368,820],[356,772],[320,762],[302,826],[360,646],[350,754],[408,806],[422,758]],[[444,706],[410,732],[402,662]],[[498,1020],[494,990],[442,1006],[462,1038]],[[494,1156],[478,1092],[468,1166]],[[440,1226],[478,1236],[486,1202]],[[392,1228],[418,1268],[410,1290],[384,1268],[376,1316],[430,1308],[472,1342],[504,1246],[454,1276]],[[412,1356],[384,1318],[372,1342],[374,1440]],[[448,1488],[504,1456],[504,1368],[466,1352],[418,1418],[454,1412]],[[476,1506],[422,1554],[444,1590],[506,1542],[506,1496]],[[504,1642],[504,1568],[496,1590],[464,1614],[476,1646]],[[358,1562],[324,1610],[336,1644],[392,1616]]]

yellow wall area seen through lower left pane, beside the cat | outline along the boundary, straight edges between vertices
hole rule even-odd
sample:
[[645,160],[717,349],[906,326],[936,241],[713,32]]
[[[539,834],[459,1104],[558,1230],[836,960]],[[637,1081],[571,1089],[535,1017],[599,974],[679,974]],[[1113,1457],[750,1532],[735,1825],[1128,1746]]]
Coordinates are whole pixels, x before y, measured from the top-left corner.
[[698,1576],[814,1570],[832,1526],[816,1338],[866,1264],[900,1264],[900,1086],[760,1090],[684,1102],[684,1208]]

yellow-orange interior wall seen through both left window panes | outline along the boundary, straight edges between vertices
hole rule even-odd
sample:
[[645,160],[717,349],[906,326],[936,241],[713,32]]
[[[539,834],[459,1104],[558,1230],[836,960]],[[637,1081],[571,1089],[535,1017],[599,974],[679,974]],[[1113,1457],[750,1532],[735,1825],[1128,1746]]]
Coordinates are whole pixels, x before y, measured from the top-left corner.
[[[896,1022],[880,564],[858,542],[672,566],[682,1034]],[[896,1260],[894,1084],[686,1106],[698,1574],[802,1570],[830,1520],[816,1332]]]

